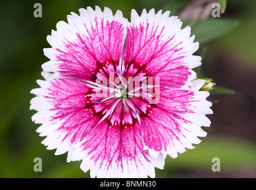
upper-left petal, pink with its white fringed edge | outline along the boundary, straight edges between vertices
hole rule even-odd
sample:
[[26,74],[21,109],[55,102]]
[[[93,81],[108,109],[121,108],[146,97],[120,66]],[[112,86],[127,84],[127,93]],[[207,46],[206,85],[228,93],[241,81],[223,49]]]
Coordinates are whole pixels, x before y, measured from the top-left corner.
[[127,21],[109,8],[80,9],[80,16],[68,15],[68,24],[60,21],[48,36],[51,48],[44,49],[50,59],[42,67],[59,72],[61,77],[91,80],[92,73],[107,61],[118,65],[122,57]]

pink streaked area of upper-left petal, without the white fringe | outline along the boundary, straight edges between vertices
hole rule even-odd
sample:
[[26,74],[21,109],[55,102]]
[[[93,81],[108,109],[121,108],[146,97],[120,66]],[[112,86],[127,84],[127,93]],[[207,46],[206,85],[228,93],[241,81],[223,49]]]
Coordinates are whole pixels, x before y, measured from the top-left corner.
[[122,57],[125,34],[121,23],[95,17],[91,27],[87,24],[84,27],[87,33],[77,33],[77,40],[65,42],[65,49],[56,49],[63,77],[91,80],[97,63],[102,65],[112,61],[118,64]]

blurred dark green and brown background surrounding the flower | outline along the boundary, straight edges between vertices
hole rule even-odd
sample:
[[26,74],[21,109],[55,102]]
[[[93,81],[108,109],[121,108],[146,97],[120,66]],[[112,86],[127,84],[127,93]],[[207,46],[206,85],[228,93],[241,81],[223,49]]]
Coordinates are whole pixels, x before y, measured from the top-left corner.
[[[42,18],[33,16],[34,4],[42,4]],[[179,10],[190,1],[1,1],[0,46],[0,178],[88,178],[79,162],[67,163],[67,154],[54,156],[46,150],[31,121],[29,110],[34,97],[30,90],[42,79],[41,65],[48,61],[43,48],[50,47],[46,36],[56,23],[67,21],[72,11],[87,6],[121,10],[130,18],[131,9],[141,13],[155,8]],[[255,178],[256,177],[256,2],[232,0],[220,18],[209,17],[192,26],[200,42],[197,54],[204,56],[198,71],[219,87],[213,90],[214,115],[208,135],[195,149],[167,156],[165,169],[156,169],[157,178]],[[185,23],[189,23],[185,21]],[[226,93],[226,94],[225,94]],[[33,160],[42,159],[42,172],[34,172]],[[220,159],[220,172],[211,170],[214,157]]]

